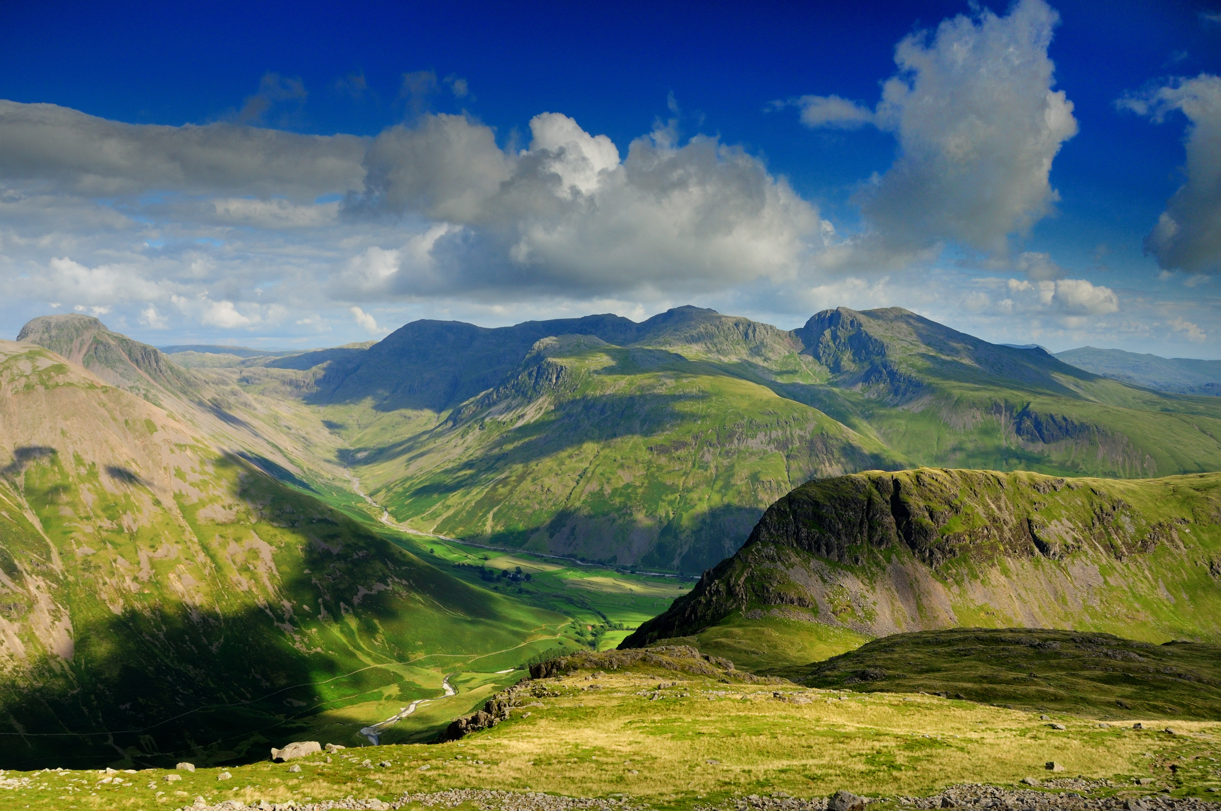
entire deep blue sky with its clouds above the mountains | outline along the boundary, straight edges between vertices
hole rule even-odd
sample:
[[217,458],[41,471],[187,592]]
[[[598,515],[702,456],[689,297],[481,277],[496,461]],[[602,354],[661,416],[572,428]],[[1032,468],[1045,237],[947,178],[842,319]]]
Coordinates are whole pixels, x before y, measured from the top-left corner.
[[899,305],[1221,357],[1221,6],[168,5],[0,4],[0,332]]

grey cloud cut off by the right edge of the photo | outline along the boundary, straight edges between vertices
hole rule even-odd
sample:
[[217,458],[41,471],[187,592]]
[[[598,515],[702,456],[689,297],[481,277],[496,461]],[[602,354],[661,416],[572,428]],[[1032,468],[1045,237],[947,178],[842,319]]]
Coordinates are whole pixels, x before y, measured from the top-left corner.
[[1177,79],[1120,105],[1159,122],[1177,110],[1190,122],[1187,182],[1166,203],[1145,250],[1165,270],[1221,272],[1221,77]]

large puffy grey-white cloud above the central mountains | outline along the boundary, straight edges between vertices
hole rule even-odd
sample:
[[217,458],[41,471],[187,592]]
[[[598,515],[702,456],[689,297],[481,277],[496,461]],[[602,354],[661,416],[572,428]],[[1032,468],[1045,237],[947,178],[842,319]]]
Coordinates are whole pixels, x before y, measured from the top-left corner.
[[[346,213],[416,215],[446,227],[425,235],[426,250],[420,238],[398,250],[391,272],[387,254],[370,252],[344,282],[391,294],[708,291],[795,278],[821,238],[813,206],[756,158],[713,138],[678,145],[658,129],[620,160],[609,138],[557,112],[535,116],[530,132],[518,153],[462,116],[379,136]],[[382,271],[370,275],[379,263]]]

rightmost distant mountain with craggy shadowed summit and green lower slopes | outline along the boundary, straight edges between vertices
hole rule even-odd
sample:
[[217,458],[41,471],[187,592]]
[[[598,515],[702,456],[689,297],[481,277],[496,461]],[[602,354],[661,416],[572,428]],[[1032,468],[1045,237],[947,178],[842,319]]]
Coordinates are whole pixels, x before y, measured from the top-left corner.
[[900,308],[827,310],[796,332],[832,376],[785,392],[917,464],[1117,478],[1221,470],[1211,397],[1133,388]]

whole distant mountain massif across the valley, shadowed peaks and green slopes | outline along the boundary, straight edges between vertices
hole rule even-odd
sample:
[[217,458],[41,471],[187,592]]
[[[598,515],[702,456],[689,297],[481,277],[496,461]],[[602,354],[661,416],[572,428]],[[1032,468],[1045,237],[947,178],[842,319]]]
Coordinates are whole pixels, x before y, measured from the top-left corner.
[[731,555],[812,478],[1221,469],[1221,401],[1134,388],[902,308],[824,310],[796,330],[695,307],[641,322],[422,320],[372,344],[225,365],[192,371],[267,432],[291,459],[277,464],[313,465],[331,486],[350,473],[399,522],[684,572]]

